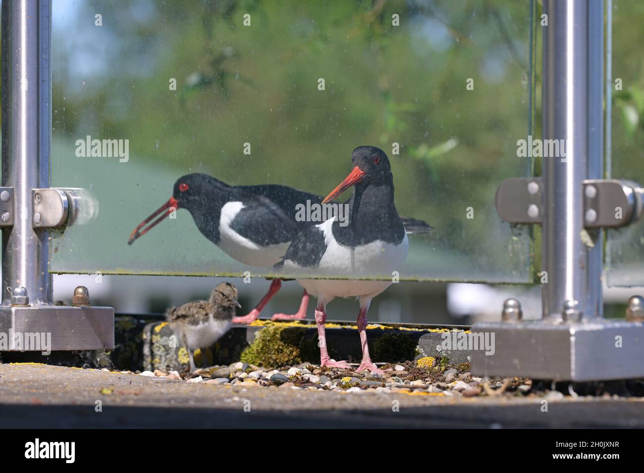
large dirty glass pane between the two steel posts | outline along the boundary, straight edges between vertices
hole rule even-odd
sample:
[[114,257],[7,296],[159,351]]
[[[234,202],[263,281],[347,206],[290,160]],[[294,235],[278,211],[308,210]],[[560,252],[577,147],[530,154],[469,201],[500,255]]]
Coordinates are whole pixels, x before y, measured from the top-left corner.
[[[530,169],[516,145],[529,133],[530,23],[529,1],[55,2],[52,185],[85,189],[87,206],[52,236],[50,269],[281,274],[272,264],[302,215],[323,221],[307,198],[251,189],[250,211],[212,181],[179,178],[279,184],[315,204],[352,170],[354,148],[374,145],[399,214],[433,230],[409,236],[406,259],[325,275],[390,279],[393,267],[401,280],[530,281],[529,235],[495,210],[500,181]],[[169,200],[190,192],[196,219]],[[390,216],[378,202],[365,221],[379,225],[353,237],[399,225],[378,220]],[[169,217],[128,245],[157,209],[149,223]]]

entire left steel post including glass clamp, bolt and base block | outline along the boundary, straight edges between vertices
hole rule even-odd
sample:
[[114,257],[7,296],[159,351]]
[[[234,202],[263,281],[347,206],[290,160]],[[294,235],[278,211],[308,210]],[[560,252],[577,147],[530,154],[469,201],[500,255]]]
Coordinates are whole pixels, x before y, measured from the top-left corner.
[[77,288],[71,306],[52,304],[48,228],[63,231],[71,225],[69,215],[78,209],[69,206],[82,202],[76,191],[49,188],[51,28],[50,0],[3,2],[0,333],[8,342],[3,351],[114,348],[114,310],[90,306],[87,288]]

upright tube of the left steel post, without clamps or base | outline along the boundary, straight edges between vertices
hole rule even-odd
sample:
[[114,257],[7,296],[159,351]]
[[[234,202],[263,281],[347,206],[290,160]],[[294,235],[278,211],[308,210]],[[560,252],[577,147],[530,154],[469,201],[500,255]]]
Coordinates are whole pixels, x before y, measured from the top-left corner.
[[15,223],[3,228],[3,305],[26,288],[32,304],[52,301],[48,231],[32,227],[32,189],[49,186],[51,4],[2,5],[2,181],[14,187]]

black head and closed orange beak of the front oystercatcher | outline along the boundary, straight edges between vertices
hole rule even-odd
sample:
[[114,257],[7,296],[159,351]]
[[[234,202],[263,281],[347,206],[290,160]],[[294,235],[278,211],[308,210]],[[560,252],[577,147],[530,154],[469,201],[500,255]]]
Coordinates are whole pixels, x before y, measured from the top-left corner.
[[375,146],[359,146],[351,155],[352,170],[345,180],[332,190],[323,203],[335,199],[346,189],[355,185],[357,189],[370,184],[393,183],[392,167],[387,154]]

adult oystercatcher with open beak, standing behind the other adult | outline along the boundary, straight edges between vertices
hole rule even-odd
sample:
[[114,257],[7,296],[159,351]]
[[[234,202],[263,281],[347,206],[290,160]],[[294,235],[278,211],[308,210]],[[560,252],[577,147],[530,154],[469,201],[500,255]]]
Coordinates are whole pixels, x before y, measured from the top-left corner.
[[[316,225],[314,221],[296,219],[297,205],[307,200],[321,204],[323,198],[284,185],[231,186],[207,174],[186,174],[176,180],[173,196],[135,228],[128,244],[149,232],[173,210],[186,209],[200,232],[229,256],[249,266],[270,267],[281,261],[299,232]],[[422,220],[402,219],[410,234],[431,229]],[[232,322],[256,320],[279,288],[281,280],[274,279],[257,306],[243,317],[234,317]],[[276,313],[272,320],[305,319],[307,306],[305,290],[294,315]]]

